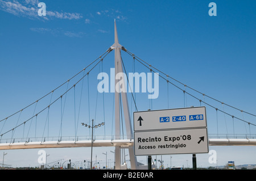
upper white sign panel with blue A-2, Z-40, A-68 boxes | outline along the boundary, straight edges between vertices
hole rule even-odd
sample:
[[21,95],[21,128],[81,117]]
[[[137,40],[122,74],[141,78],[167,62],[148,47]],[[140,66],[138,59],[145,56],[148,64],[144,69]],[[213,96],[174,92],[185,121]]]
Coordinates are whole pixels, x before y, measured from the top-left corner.
[[205,107],[134,112],[134,131],[207,127]]

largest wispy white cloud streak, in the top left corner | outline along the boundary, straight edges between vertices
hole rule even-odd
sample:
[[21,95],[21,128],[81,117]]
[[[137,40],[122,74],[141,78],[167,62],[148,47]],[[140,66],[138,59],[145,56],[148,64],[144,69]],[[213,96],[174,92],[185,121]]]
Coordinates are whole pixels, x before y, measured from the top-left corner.
[[[16,16],[23,16],[30,19],[46,19],[49,18],[59,18],[59,19],[80,19],[82,15],[79,13],[71,12],[58,12],[58,11],[49,11],[46,9],[46,16],[39,16],[38,10],[38,0],[0,0],[0,10],[9,12],[10,14]],[[46,5],[47,6],[47,5]]]

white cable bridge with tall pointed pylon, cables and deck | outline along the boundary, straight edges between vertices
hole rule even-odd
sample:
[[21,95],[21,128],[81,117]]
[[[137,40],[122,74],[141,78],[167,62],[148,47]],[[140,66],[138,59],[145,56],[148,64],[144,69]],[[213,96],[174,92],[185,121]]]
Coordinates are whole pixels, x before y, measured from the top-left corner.
[[[149,61],[119,44],[115,26],[114,44],[96,60],[0,120],[0,149],[91,147],[93,140],[93,147],[115,146],[115,159],[121,148],[129,149],[134,157],[134,111],[191,106],[207,108],[209,145],[256,145],[255,114],[204,94]],[[139,79],[130,79],[135,74]]]

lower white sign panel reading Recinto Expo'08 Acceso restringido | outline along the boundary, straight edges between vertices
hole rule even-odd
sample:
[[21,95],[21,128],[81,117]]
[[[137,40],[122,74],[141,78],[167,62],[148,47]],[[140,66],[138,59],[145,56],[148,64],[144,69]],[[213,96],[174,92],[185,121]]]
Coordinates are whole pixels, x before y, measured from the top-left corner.
[[207,128],[134,132],[135,155],[208,153]]

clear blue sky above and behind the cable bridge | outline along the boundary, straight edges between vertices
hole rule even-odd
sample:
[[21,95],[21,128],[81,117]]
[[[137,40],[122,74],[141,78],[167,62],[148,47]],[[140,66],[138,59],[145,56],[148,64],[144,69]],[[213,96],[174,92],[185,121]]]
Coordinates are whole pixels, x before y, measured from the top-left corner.
[[[46,16],[38,15],[39,1],[0,0],[0,81],[2,85],[0,116],[2,119],[46,95],[104,53],[114,43],[114,19],[117,21],[119,43],[127,50],[185,85],[255,115],[255,2],[43,2],[46,3]],[[217,16],[209,16],[210,2],[216,3]],[[132,58],[125,52],[122,52],[122,55],[127,71],[132,71]],[[114,67],[113,62],[112,52],[104,59],[103,69],[106,73],[110,73],[110,68]],[[137,68],[135,71],[147,71],[138,62],[135,66]],[[96,95],[94,90],[97,86],[97,78],[95,76],[98,70],[90,77],[90,89],[92,89],[90,94],[94,95],[93,100]],[[159,99],[152,100],[152,108],[155,110],[167,108],[166,81],[162,80],[160,83]],[[169,90],[169,108],[184,107],[183,92],[171,85]],[[202,95],[195,92],[193,94],[201,100],[204,99]],[[97,104],[99,107],[102,106],[100,98],[101,95]],[[106,94],[105,98],[106,115],[111,120],[113,96]],[[150,108],[147,99],[139,96],[137,99],[139,110]],[[93,100],[91,100],[93,107],[90,110],[91,118],[96,106]],[[130,100],[129,95],[129,102]],[[48,101],[49,97],[46,102]],[[256,120],[253,116],[229,110],[226,106],[223,108],[220,103],[217,104],[209,98],[205,98],[205,101],[255,124]],[[185,106],[200,106],[200,103],[186,95]],[[84,121],[88,121],[86,111],[88,110],[84,112],[86,116],[83,118]],[[134,105],[131,111],[134,111]],[[207,113],[208,131],[210,134],[216,134],[216,111],[207,107]],[[58,115],[51,114],[51,119],[55,119]],[[45,121],[45,118],[43,119]],[[227,121],[228,128],[225,128],[224,120]],[[224,116],[223,113],[218,112],[218,121],[220,122],[219,133],[226,134],[226,129],[228,133],[233,133],[230,116]],[[238,133],[249,133],[247,125],[241,121],[236,123]],[[16,124],[16,118],[14,124]],[[52,121],[51,124],[55,123]],[[106,125],[108,133],[112,130],[111,124]],[[59,125],[59,122],[56,125]],[[56,129],[59,132],[59,127]],[[84,129],[79,127],[79,132],[81,133]],[[250,131],[255,133],[255,128],[251,126]],[[232,153],[234,147],[223,148],[222,146],[210,149],[218,150],[217,153],[220,155],[218,165],[225,165],[229,161],[225,154]],[[255,163],[256,161],[249,158],[237,158],[237,155],[246,151],[249,154],[252,149],[254,148],[239,147],[237,151],[242,152],[233,153],[230,159],[236,158],[235,163]],[[89,149],[77,150],[75,151],[79,154],[76,153],[76,158],[71,149],[49,149],[52,160],[57,155],[60,158],[80,159],[78,155],[82,154],[81,152],[86,150],[89,153]],[[101,152],[102,150],[99,150],[98,158],[102,157],[101,159],[104,160],[105,155]],[[20,154],[25,161],[20,159]],[[34,155],[33,159],[28,156],[31,154]],[[184,160],[192,159],[191,155],[174,155],[173,162],[175,157],[179,160],[176,163],[184,162],[183,165],[187,164]],[[204,160],[201,165],[209,166],[207,161],[209,155],[204,154],[201,157],[204,157],[201,159]],[[37,150],[20,152],[10,150],[9,157],[6,156],[5,161],[6,164],[8,162],[11,165],[36,165],[37,158]]]

